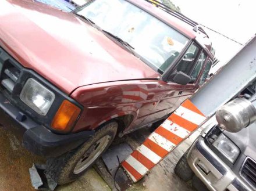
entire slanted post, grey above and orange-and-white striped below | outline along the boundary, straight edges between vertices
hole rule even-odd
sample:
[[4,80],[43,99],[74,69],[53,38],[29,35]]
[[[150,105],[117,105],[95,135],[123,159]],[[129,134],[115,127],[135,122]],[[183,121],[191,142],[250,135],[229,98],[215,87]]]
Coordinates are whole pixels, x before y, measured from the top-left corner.
[[256,36],[122,162],[133,182],[143,178],[207,117],[256,80],[255,52]]

